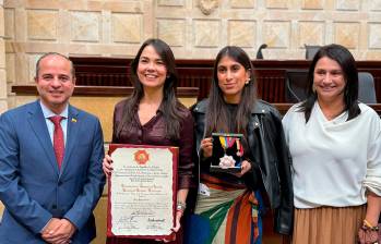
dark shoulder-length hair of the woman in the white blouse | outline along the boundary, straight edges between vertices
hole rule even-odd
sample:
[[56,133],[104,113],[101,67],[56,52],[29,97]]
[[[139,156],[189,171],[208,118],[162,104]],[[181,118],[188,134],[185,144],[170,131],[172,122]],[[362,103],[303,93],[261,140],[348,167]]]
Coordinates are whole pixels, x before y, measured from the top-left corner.
[[336,61],[343,70],[345,80],[344,102],[345,110],[348,111],[348,120],[356,118],[361,112],[357,101],[358,73],[356,61],[348,49],[341,45],[331,44],[319,49],[317,54],[313,57],[312,63],[308,71],[308,97],[299,107],[300,111],[305,112],[306,123],[310,119],[311,110],[315,100],[318,99],[317,93],[312,89],[314,68],[318,61],[324,57]]

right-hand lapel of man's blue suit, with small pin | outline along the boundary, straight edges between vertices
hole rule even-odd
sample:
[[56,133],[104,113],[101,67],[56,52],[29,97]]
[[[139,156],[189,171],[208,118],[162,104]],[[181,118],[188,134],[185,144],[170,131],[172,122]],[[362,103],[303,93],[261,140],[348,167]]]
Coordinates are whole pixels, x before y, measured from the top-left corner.
[[70,164],[70,156],[73,151],[73,149],[76,147],[76,141],[81,121],[79,120],[79,110],[76,110],[74,107],[69,106],[69,114],[68,114],[68,132],[67,132],[67,144],[64,149],[64,157],[63,162],[61,166],[61,175],[63,172],[69,168]]

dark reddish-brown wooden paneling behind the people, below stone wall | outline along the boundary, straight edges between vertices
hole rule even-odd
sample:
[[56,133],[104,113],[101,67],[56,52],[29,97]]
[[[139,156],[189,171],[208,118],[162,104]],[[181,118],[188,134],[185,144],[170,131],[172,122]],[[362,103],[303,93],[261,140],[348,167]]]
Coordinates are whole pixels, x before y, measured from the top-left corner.
[[[131,59],[71,58],[78,73],[78,85],[131,86]],[[207,97],[213,76],[213,60],[177,60],[180,87],[199,87],[199,97]],[[308,70],[309,60],[253,60],[258,95],[269,102],[285,102],[286,70]],[[358,61],[359,71],[374,77],[378,102],[381,101],[381,61]]]

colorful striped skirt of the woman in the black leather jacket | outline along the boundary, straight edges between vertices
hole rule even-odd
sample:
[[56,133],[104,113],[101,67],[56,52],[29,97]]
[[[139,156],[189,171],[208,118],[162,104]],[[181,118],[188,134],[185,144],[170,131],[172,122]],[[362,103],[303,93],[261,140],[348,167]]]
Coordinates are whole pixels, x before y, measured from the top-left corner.
[[203,175],[201,183],[209,190],[198,196],[194,215],[190,216],[186,227],[184,243],[260,244],[262,200],[259,192],[211,175]]

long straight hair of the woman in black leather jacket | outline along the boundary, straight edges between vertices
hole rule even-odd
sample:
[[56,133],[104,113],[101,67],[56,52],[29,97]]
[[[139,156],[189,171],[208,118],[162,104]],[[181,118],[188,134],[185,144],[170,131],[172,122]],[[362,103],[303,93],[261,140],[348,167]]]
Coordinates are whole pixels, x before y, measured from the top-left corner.
[[[237,118],[228,118],[228,108],[224,101],[224,93],[218,86],[218,63],[222,58],[229,57],[240,63],[246,71],[250,72],[250,82],[245,85],[241,91],[241,99],[238,103]],[[254,84],[253,66],[249,56],[239,47],[227,46],[223,48],[214,62],[213,81],[209,96],[206,130],[205,135],[211,136],[212,132],[229,132],[229,121],[236,122],[236,133],[247,135],[247,126],[249,123],[251,110],[257,99],[257,89]]]

